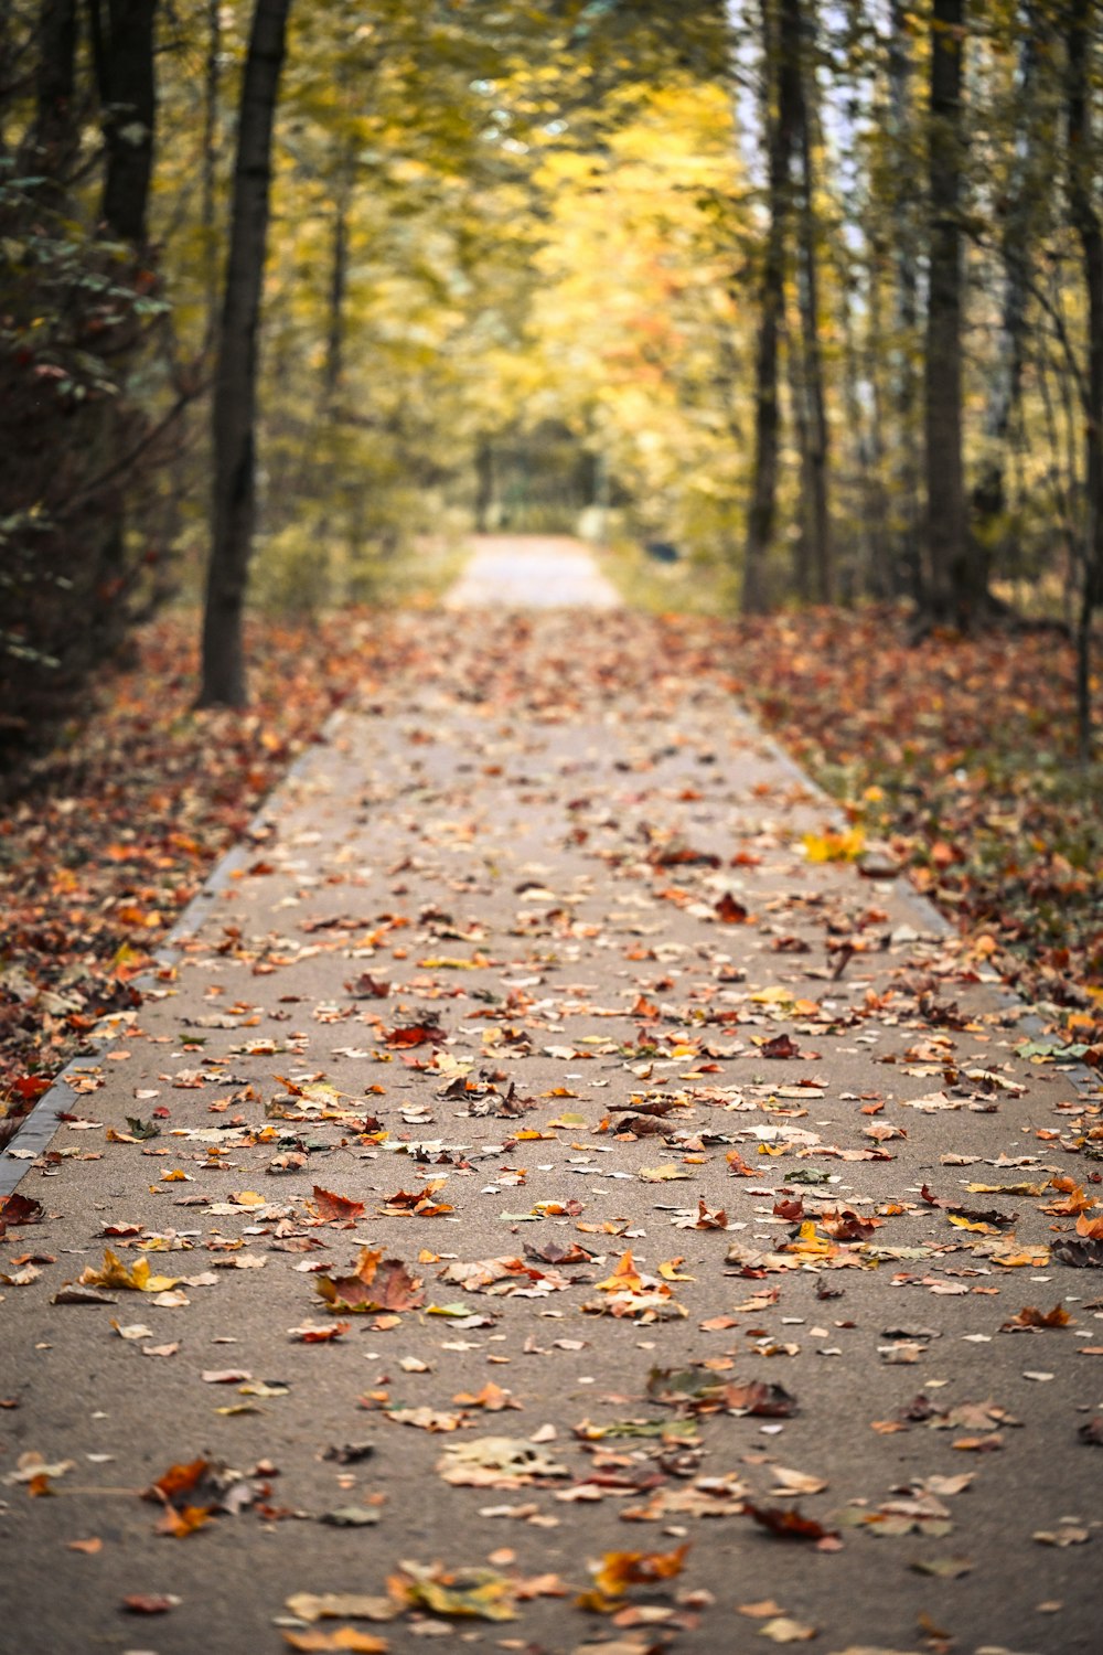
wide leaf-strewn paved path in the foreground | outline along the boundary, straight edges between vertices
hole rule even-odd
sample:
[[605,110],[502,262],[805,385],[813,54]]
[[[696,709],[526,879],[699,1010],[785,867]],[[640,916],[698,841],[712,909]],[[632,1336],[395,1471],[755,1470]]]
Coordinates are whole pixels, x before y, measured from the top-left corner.
[[1098,1652],[1098,1101],[807,859],[728,669],[623,614],[380,632],[51,1097],[7,1648]]

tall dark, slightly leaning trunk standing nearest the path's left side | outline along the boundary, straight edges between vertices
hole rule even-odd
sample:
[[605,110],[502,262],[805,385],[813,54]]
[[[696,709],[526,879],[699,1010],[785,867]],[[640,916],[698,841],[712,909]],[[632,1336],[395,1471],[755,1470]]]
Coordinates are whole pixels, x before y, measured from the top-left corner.
[[246,700],[241,626],[256,521],[256,333],[268,247],[271,131],[289,5],[291,0],[256,0],[241,84],[212,415],[215,483],[200,707],[243,707]]

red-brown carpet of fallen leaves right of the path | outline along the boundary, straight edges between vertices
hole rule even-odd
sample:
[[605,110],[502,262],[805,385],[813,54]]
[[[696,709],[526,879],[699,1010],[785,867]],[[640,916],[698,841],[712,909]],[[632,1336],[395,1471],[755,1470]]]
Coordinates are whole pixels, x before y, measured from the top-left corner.
[[[1058,631],[934,634],[890,607],[741,622],[736,688],[1029,1001],[1103,1021],[1103,766],[1077,765]],[[1095,685],[1096,728],[1103,722]],[[982,938],[987,938],[984,942]]]

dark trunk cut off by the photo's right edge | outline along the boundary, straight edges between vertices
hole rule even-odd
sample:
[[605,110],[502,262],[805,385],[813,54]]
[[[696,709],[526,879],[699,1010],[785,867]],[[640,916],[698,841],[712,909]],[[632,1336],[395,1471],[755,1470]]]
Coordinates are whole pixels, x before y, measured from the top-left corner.
[[1070,0],[1067,26],[1068,210],[1083,253],[1088,300],[1085,415],[1085,530],[1077,624],[1080,760],[1091,758],[1091,622],[1103,599],[1103,225],[1093,199],[1098,170],[1091,121],[1093,0]]

